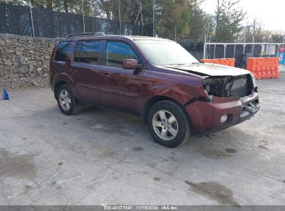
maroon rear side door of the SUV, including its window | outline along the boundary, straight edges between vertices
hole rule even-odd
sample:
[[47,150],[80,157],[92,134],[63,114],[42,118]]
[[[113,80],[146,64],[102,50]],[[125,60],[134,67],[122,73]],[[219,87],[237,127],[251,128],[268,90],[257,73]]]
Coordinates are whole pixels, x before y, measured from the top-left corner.
[[76,83],[77,98],[83,103],[96,105],[99,102],[101,49],[101,40],[79,40],[76,44],[69,71]]

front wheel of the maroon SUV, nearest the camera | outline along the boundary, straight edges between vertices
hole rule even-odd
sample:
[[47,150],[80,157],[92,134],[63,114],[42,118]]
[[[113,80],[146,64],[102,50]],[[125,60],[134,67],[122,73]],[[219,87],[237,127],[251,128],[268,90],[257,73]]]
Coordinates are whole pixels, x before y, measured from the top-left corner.
[[175,147],[188,140],[191,124],[186,112],[175,101],[159,101],[148,112],[148,130],[155,142]]

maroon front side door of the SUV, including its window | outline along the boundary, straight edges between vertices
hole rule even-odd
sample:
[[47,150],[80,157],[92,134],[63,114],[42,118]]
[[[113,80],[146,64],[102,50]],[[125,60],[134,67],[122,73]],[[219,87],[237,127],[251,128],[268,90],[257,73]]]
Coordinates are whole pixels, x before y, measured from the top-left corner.
[[105,107],[125,112],[138,112],[142,69],[123,69],[123,60],[141,60],[126,42],[107,41],[105,64],[100,69],[100,101]]

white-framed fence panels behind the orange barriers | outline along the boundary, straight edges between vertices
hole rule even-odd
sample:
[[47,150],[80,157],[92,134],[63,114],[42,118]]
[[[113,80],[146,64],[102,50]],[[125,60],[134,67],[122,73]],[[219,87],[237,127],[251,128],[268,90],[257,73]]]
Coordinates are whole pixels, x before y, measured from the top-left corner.
[[244,68],[247,58],[279,56],[282,45],[284,43],[205,43],[203,58],[235,58],[235,66]]

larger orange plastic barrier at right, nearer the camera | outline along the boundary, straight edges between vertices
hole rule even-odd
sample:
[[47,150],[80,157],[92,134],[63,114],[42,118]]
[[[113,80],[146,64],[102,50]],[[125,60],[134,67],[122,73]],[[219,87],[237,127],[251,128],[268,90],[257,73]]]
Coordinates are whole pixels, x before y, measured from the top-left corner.
[[248,58],[246,69],[251,71],[257,79],[279,78],[279,58]]

